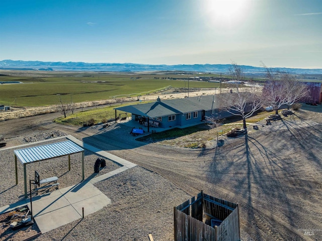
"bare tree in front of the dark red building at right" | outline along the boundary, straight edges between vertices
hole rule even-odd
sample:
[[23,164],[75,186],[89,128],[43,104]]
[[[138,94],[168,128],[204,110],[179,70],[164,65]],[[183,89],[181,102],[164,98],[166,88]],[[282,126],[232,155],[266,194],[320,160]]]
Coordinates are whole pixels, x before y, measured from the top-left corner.
[[266,68],[267,82],[265,84],[263,95],[266,104],[272,106],[275,114],[283,105],[287,105],[288,109],[295,102],[308,96],[307,86],[300,82],[293,74],[286,71],[273,71]]

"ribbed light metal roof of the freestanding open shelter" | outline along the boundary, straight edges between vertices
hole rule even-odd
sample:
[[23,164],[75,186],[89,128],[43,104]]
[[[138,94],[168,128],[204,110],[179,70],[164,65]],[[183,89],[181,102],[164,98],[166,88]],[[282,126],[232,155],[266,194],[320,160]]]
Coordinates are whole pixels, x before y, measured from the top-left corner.
[[14,150],[22,164],[38,162],[40,160],[47,160],[82,151],[84,151],[82,147],[70,140]]

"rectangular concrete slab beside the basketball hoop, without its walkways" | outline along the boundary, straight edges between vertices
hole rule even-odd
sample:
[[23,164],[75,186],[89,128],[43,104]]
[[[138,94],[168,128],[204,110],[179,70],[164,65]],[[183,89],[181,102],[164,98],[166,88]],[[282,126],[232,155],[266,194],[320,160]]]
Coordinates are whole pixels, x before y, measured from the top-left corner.
[[92,183],[81,184],[33,198],[33,216],[42,233],[82,218],[83,208],[85,216],[111,203]]

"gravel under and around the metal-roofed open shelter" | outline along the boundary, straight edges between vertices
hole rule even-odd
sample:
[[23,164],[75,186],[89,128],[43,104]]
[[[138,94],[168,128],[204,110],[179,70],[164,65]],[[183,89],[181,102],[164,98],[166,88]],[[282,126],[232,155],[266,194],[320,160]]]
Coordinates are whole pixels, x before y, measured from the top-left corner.
[[[18,202],[24,199],[24,170],[23,165],[18,160],[18,185],[16,184],[15,176],[15,149],[21,149],[31,147],[35,145],[43,145],[54,143],[58,141],[66,141],[66,138],[59,140],[46,141],[38,144],[30,144],[24,147],[9,148],[0,150],[0,173],[1,173],[1,185],[0,185],[0,206],[5,206],[11,203]],[[100,157],[97,154],[85,150],[84,151],[84,168],[85,179],[93,178],[94,176],[103,175],[118,169],[120,166],[111,160],[106,159],[106,167],[98,174],[94,174],[94,164],[96,159]],[[32,163],[27,165],[27,190],[29,192],[29,179],[34,179],[35,171],[40,175],[40,178],[47,178],[57,176],[59,179],[59,188],[75,185],[82,181],[82,153],[76,153],[70,155],[71,170],[68,171],[68,156],[58,157],[49,160],[43,160],[42,162]],[[48,191],[48,190],[44,190]]]

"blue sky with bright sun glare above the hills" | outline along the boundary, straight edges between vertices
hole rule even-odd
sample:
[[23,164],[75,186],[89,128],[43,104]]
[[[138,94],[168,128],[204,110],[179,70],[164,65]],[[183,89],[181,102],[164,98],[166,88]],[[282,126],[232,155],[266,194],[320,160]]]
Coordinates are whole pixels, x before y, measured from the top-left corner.
[[322,68],[322,1],[2,0],[4,59]]

